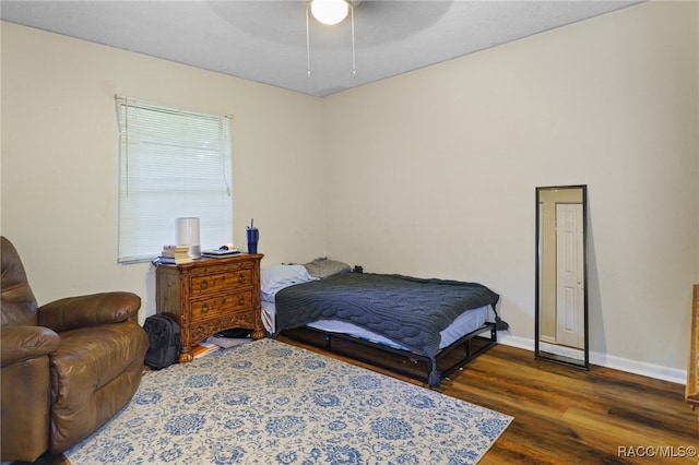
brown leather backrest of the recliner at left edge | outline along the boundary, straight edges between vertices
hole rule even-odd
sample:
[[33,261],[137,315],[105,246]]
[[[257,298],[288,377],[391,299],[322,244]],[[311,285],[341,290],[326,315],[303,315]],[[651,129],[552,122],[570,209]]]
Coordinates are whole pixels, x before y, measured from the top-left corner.
[[0,237],[0,259],[2,275],[0,276],[0,310],[2,325],[38,324],[36,298],[26,279],[24,265],[10,240]]

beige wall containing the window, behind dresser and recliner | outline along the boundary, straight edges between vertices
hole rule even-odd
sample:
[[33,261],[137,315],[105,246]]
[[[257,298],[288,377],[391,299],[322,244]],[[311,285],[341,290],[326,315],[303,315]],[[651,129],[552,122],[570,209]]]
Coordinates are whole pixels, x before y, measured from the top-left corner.
[[117,264],[115,94],[234,115],[237,245],[254,217],[263,265],[324,254],[320,99],[0,24],[1,226],[39,302],[128,289],[155,311],[154,269]]

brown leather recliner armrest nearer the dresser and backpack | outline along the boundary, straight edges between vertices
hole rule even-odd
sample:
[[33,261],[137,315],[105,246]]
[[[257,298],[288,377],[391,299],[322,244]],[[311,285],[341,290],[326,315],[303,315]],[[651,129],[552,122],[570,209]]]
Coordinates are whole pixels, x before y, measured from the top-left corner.
[[132,293],[68,297],[38,308],[39,324],[57,333],[76,327],[120,323],[138,317],[141,298]]

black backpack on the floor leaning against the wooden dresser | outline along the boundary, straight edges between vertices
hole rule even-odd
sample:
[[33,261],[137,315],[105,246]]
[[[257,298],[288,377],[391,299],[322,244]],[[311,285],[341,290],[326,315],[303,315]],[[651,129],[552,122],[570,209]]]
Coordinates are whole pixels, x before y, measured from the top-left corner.
[[159,370],[179,359],[179,324],[165,314],[154,314],[145,319],[143,329],[149,335],[151,346],[145,353],[145,365]]

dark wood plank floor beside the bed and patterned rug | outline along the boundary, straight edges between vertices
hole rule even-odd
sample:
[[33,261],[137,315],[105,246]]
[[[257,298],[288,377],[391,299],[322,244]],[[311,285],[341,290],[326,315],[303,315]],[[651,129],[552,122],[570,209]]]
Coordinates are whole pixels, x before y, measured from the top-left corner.
[[514,417],[481,464],[699,463],[697,412],[685,403],[684,384],[579,370],[497,345],[437,391]]

